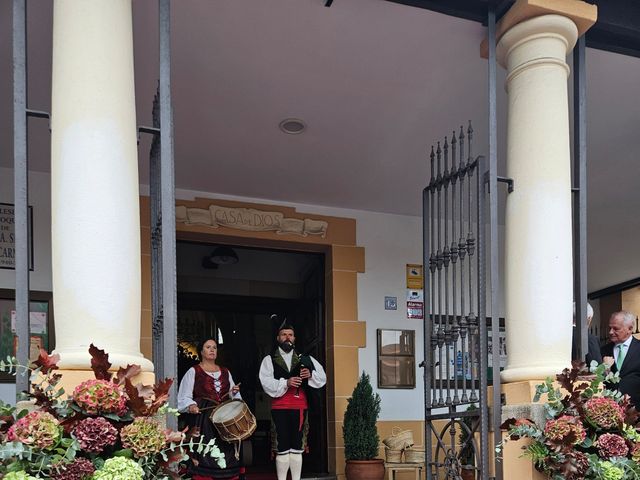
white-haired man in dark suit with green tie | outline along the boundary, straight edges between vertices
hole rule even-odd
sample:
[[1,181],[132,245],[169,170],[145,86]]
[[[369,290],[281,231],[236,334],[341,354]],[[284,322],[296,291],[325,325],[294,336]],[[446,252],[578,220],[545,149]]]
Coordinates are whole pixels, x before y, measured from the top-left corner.
[[618,390],[629,395],[636,408],[640,408],[640,341],[632,336],[635,325],[633,313],[622,311],[611,315],[611,342],[602,347],[602,355],[612,372],[620,372]]

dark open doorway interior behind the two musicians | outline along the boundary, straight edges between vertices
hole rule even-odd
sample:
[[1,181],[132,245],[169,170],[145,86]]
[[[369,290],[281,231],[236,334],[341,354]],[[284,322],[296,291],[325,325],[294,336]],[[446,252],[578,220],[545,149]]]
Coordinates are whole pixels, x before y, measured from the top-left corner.
[[[297,349],[325,364],[324,256],[233,246],[237,260],[229,256],[212,261],[216,248],[178,242],[178,342],[188,347],[207,338],[218,341],[218,363],[241,383],[242,398],[258,422],[254,435],[243,444],[247,472],[275,475],[269,451],[270,400],[258,380],[260,363],[275,345],[278,325],[270,316],[287,317],[296,329]],[[182,378],[197,360],[184,348],[178,350]],[[324,389],[310,402],[314,403],[303,475],[318,476],[327,472]]]

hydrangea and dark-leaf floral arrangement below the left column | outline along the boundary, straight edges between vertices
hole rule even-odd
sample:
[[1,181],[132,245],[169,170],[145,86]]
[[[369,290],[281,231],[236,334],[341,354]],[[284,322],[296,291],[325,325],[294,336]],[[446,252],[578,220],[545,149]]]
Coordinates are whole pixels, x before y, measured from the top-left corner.
[[[58,385],[58,355],[41,350],[33,367],[13,358],[0,371],[30,373],[32,411],[0,402],[0,478],[4,480],[142,480],[185,478],[191,452],[225,466],[214,440],[196,429],[165,430],[160,417],[175,414],[167,399],[172,380],[153,386],[131,381],[140,367],[111,372],[109,355],[91,345],[95,379],[70,396]],[[31,410],[31,409],[30,409]]]

